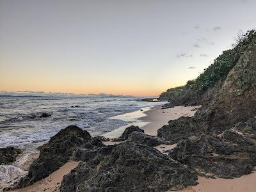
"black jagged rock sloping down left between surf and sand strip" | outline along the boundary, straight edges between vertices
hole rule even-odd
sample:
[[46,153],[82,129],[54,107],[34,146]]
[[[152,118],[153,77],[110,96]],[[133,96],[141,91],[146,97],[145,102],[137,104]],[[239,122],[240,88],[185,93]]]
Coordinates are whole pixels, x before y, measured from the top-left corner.
[[[31,164],[28,175],[20,179],[18,186],[28,186],[36,180],[47,177],[67,163],[77,148],[90,141],[92,141],[90,134],[77,126],[70,125],[61,129],[48,143],[40,147],[40,156]],[[91,145],[88,144],[89,147],[92,147]]]

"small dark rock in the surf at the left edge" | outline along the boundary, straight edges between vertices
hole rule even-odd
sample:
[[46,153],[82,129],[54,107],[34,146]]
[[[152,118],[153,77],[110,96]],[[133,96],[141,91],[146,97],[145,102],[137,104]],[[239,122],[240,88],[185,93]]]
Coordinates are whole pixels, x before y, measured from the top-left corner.
[[8,164],[15,161],[16,157],[22,153],[22,150],[14,147],[0,148],[0,164]]

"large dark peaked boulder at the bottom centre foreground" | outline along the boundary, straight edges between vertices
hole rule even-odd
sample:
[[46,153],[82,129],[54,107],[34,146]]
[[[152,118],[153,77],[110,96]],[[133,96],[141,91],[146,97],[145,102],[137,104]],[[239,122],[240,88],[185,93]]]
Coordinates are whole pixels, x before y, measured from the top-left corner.
[[166,191],[196,184],[196,173],[155,148],[126,141],[65,175],[61,191]]

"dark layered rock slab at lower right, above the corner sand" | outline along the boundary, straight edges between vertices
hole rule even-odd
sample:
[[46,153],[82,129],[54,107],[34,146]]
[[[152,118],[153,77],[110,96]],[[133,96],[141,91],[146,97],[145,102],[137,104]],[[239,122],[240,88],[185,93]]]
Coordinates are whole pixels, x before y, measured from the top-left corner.
[[180,140],[169,156],[206,177],[240,177],[256,165],[255,136],[256,118],[252,118],[219,136],[202,134]]

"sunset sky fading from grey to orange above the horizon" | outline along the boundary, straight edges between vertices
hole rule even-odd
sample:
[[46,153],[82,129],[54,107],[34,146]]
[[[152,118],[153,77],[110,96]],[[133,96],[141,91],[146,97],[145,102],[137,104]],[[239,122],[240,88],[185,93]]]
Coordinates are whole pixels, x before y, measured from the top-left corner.
[[0,0],[0,91],[154,96],[195,79],[254,0]]

